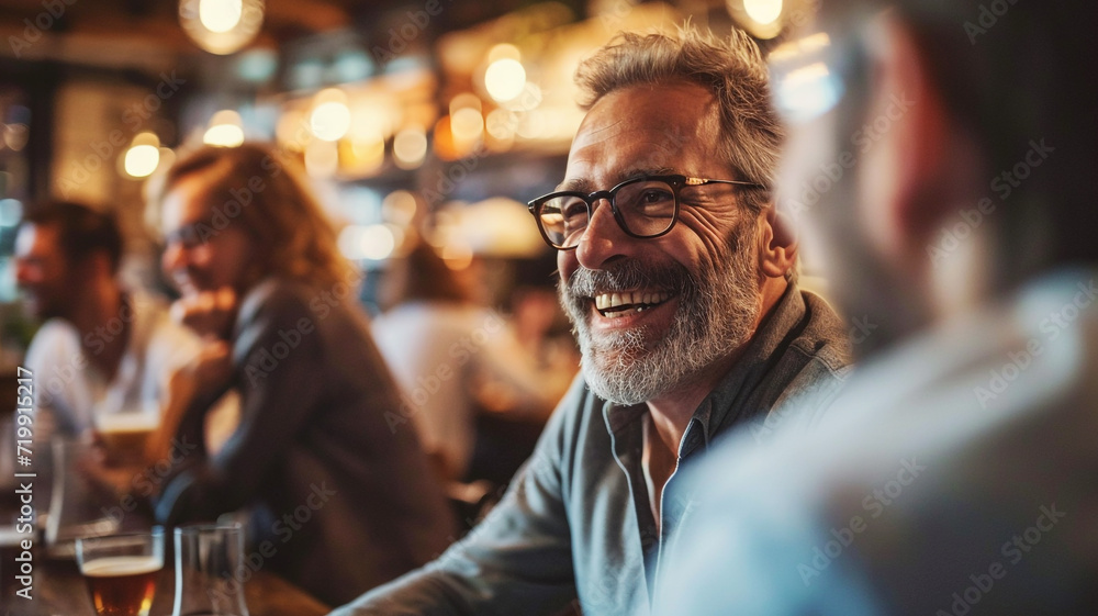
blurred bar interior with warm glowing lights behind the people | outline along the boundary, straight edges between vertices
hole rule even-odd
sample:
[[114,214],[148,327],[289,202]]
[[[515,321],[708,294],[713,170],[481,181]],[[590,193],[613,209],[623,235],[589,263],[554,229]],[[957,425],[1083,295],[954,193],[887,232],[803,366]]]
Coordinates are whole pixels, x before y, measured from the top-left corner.
[[[273,144],[303,167],[339,251],[363,275],[366,313],[385,311],[386,278],[428,245],[469,301],[514,332],[503,351],[514,355],[496,363],[524,355],[526,377],[559,397],[579,354],[554,296],[556,251],[526,201],[563,177],[583,116],[578,63],[619,31],[686,19],[739,25],[765,52],[798,16],[781,0],[0,0],[0,524],[18,516],[12,402],[40,325],[12,258],[34,204],[111,213],[123,284],[171,301],[158,212],[146,206],[157,177],[200,144]],[[523,377],[484,372],[473,443],[442,473],[466,507],[459,533],[498,497],[552,408],[523,395]],[[403,384],[411,396],[416,382]],[[86,489],[63,477],[71,460],[59,451],[34,449],[54,474],[35,493],[35,524],[53,539],[57,517],[77,514],[51,501]],[[249,591],[251,613],[278,613],[256,596],[282,583]],[[311,609],[294,605],[283,609]]]

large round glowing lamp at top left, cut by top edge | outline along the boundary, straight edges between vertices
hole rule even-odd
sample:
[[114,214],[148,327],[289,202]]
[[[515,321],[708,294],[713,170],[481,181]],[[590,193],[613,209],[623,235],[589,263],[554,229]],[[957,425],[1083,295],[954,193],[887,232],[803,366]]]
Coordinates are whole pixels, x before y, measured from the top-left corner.
[[232,54],[259,34],[264,0],[179,0],[179,23],[199,47]]

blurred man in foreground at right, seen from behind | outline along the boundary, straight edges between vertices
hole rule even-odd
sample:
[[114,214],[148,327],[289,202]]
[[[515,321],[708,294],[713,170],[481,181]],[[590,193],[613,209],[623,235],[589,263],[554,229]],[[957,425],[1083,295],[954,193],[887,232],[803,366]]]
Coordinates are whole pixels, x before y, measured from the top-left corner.
[[820,433],[698,469],[659,614],[1098,612],[1093,13],[841,2],[771,56],[780,203],[876,329]]

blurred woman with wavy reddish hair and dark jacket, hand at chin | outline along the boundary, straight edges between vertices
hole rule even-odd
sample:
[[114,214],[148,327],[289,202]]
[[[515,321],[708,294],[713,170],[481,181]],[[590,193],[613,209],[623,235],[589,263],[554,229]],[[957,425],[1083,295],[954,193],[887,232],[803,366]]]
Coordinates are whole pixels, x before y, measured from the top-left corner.
[[240,423],[220,453],[172,469],[157,520],[249,506],[265,567],[328,603],[437,555],[451,512],[415,430],[385,421],[400,394],[356,303],[360,276],[296,168],[259,145],[203,147],[158,197],[164,270],[210,345],[178,434],[227,388]]

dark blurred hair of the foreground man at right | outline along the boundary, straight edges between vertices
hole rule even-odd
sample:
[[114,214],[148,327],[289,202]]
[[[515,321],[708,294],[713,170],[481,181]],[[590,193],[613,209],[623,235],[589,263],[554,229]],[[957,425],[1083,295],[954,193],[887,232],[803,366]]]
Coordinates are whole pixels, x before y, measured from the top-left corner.
[[[889,10],[907,27],[929,68],[952,125],[975,145],[979,186],[994,205],[981,221],[994,229],[989,281],[999,291],[1035,273],[1098,262],[1098,208],[1090,202],[1098,168],[1094,137],[1096,65],[1091,3],[1028,0],[838,0],[822,8],[822,27],[848,45],[841,113],[866,121],[874,79],[864,53],[866,19]],[[860,49],[859,49],[860,48]],[[975,203],[973,203],[975,205]],[[960,220],[960,219],[959,219]]]

